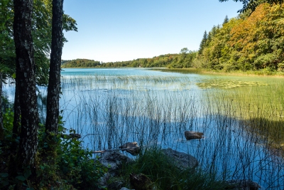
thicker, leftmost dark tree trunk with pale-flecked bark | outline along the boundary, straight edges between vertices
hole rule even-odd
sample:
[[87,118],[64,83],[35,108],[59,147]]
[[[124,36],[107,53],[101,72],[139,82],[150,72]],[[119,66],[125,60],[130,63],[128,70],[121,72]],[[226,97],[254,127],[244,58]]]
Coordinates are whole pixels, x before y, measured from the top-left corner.
[[[13,36],[16,46],[16,85],[21,107],[20,144],[16,155],[16,171],[31,169],[29,180],[35,174],[35,153],[38,144],[38,107],[35,93],[35,62],[31,36],[33,0],[13,0]],[[15,97],[17,98],[17,97]],[[11,163],[12,164],[12,163]],[[10,171],[15,174],[15,171]]]

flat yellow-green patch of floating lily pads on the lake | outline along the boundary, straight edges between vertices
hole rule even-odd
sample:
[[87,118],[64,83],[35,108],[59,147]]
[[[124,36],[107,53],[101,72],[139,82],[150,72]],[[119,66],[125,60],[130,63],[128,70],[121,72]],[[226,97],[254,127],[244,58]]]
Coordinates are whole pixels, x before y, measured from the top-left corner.
[[261,85],[268,85],[268,84],[256,81],[222,80],[222,79],[209,79],[209,80],[204,80],[204,82],[202,83],[197,83],[197,86],[199,86],[202,89],[204,88],[230,89],[230,88],[238,88],[246,86],[261,86]]

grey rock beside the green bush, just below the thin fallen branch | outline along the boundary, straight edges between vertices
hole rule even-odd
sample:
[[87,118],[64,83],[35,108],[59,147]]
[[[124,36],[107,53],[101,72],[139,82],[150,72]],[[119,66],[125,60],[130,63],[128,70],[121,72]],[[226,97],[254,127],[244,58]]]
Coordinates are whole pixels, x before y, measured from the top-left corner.
[[126,155],[121,154],[119,151],[114,151],[102,154],[99,162],[109,168],[111,176],[115,176],[116,174],[119,174],[119,170],[122,168],[123,164],[133,162],[133,160],[126,157]]

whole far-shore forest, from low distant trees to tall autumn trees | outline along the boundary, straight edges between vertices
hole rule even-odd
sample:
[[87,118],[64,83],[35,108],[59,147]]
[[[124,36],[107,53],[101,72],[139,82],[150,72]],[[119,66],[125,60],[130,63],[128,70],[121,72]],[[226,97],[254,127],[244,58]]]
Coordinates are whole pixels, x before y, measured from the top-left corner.
[[[94,60],[70,60],[62,68],[167,67],[207,70],[284,71],[284,8],[280,4],[259,4],[236,18],[226,16],[222,25],[204,31],[199,50],[182,48],[179,54],[153,58],[99,63]],[[94,64],[90,64],[94,63]],[[98,63],[98,64],[96,64]],[[93,66],[94,65],[94,66]]]

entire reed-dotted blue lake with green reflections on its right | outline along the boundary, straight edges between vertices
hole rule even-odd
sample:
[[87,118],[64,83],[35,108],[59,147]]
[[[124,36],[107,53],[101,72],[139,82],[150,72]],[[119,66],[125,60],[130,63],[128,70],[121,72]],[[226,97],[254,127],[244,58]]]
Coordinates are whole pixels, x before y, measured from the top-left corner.
[[[65,68],[61,74],[65,127],[82,134],[85,147],[117,149],[134,141],[170,147],[222,179],[284,188],[284,78],[135,68]],[[39,90],[45,100],[46,89]],[[13,100],[13,87],[4,91]],[[39,110],[44,117],[43,103]],[[187,130],[204,132],[204,139],[186,141]]]

